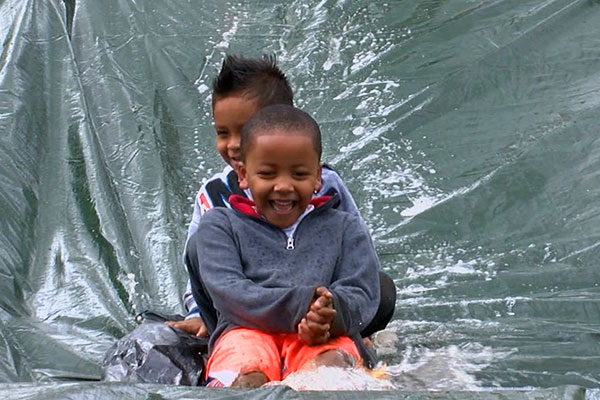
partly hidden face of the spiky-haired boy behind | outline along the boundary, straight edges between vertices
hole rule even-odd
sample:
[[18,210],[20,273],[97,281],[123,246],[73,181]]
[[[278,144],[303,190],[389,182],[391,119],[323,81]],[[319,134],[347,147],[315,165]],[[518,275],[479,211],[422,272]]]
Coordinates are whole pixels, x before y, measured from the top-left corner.
[[256,102],[244,98],[241,94],[220,98],[213,104],[217,151],[236,171],[242,162],[240,155],[242,127],[256,111],[258,111]]

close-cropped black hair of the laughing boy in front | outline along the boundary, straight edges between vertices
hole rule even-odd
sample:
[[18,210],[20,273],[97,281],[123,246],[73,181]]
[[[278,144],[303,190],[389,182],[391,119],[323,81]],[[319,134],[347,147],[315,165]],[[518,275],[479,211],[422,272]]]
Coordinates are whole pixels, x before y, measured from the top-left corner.
[[257,136],[274,129],[281,130],[290,135],[301,134],[309,136],[312,139],[317,158],[321,159],[323,148],[321,145],[321,130],[317,122],[304,111],[282,104],[258,110],[246,121],[242,128],[242,138],[240,141],[242,159],[246,158],[246,154]]

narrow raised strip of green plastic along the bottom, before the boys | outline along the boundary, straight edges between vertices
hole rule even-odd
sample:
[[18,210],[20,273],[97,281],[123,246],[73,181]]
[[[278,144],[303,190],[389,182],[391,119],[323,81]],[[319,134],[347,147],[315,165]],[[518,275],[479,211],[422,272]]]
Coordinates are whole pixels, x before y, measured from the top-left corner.
[[280,386],[268,389],[210,389],[170,385],[122,383],[60,383],[0,385],[0,398],[10,399],[405,399],[405,400],[584,400],[586,390],[578,386],[548,389],[498,389],[477,392],[339,391],[296,392]]

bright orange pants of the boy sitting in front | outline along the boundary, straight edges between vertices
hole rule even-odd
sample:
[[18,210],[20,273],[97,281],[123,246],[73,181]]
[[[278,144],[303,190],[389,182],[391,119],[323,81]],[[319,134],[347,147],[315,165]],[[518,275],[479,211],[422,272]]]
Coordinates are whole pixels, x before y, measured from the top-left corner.
[[328,350],[341,350],[360,359],[358,348],[348,336],[307,346],[296,333],[269,334],[237,328],[225,332],[217,341],[206,365],[206,378],[218,382],[209,386],[231,386],[239,374],[261,371],[269,381],[281,380]]

